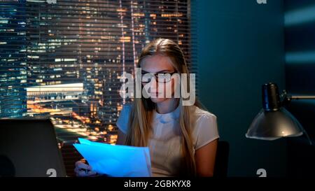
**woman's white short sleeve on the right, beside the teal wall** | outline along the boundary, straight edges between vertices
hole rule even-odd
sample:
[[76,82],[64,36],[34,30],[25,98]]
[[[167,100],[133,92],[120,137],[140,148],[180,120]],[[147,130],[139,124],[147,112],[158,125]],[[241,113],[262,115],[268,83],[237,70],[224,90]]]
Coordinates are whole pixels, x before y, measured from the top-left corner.
[[211,141],[218,139],[218,125],[216,122],[216,115],[205,112],[197,119],[195,124],[196,143],[195,150],[207,145]]

